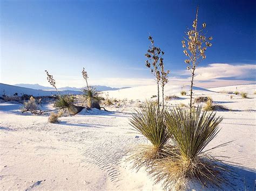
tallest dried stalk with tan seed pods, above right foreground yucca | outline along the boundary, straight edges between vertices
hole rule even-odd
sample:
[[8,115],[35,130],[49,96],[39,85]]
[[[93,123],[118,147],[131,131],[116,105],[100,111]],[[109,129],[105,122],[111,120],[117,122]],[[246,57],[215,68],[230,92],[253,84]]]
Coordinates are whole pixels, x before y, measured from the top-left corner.
[[198,8],[196,12],[196,19],[193,21],[193,29],[188,29],[184,40],[181,41],[184,48],[184,54],[187,56],[185,63],[188,65],[187,69],[191,72],[191,86],[190,86],[190,113],[192,112],[192,94],[195,70],[198,64],[206,59],[205,51],[207,47],[211,47],[210,41],[212,37],[206,38],[206,23],[203,23],[203,27],[198,29]]

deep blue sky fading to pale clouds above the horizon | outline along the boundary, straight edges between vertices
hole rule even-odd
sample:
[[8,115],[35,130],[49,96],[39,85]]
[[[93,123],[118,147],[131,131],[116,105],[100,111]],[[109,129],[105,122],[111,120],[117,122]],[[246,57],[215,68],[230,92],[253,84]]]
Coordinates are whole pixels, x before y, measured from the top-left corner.
[[170,77],[186,81],[180,41],[197,5],[199,23],[213,36],[198,81],[255,81],[255,1],[112,0],[1,1],[1,82],[48,85],[48,69],[60,87],[80,87],[85,67],[93,84],[150,84],[144,66],[149,33],[165,51]]

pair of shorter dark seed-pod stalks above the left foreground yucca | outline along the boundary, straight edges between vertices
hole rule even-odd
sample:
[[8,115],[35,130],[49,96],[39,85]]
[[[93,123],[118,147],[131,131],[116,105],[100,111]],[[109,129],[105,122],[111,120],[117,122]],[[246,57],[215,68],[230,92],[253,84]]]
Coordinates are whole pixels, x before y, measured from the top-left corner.
[[163,96],[163,106],[164,106],[164,86],[168,82],[168,74],[169,70],[165,72],[164,70],[164,62],[162,56],[164,55],[164,51],[161,51],[159,47],[154,46],[154,40],[151,36],[149,36],[149,40],[151,42],[151,46],[147,50],[145,56],[148,60],[146,60],[146,67],[151,69],[151,73],[156,77],[157,81],[157,92],[158,92],[158,108],[160,105],[159,101],[159,83],[162,87],[162,96]]

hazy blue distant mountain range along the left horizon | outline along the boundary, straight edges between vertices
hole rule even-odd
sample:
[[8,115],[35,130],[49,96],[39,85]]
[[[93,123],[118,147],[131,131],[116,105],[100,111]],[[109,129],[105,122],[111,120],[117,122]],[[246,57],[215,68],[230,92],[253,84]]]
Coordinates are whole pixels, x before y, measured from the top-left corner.
[[[31,88],[31,89],[38,89],[38,90],[55,90],[52,87],[47,87],[47,86],[41,86],[38,83],[37,84],[29,84],[29,83],[18,83],[15,84],[14,86],[19,86],[23,88]],[[129,87],[124,87],[124,88],[111,88],[108,86],[95,86],[98,91],[109,91],[109,90],[118,90],[118,89],[124,89],[124,88],[129,88]],[[58,88],[58,90],[70,90],[70,91],[81,91],[82,88],[75,88],[75,87],[63,87],[63,88]]]

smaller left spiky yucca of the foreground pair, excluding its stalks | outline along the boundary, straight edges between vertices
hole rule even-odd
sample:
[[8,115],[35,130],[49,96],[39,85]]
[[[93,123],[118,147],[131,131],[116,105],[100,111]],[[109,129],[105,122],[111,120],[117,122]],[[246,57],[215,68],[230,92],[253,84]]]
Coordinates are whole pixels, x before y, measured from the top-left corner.
[[151,145],[139,145],[131,155],[135,168],[149,166],[154,160],[162,157],[164,146],[168,140],[165,122],[165,110],[158,110],[157,102],[146,101],[142,108],[136,110],[130,124],[137,132],[145,136]]

